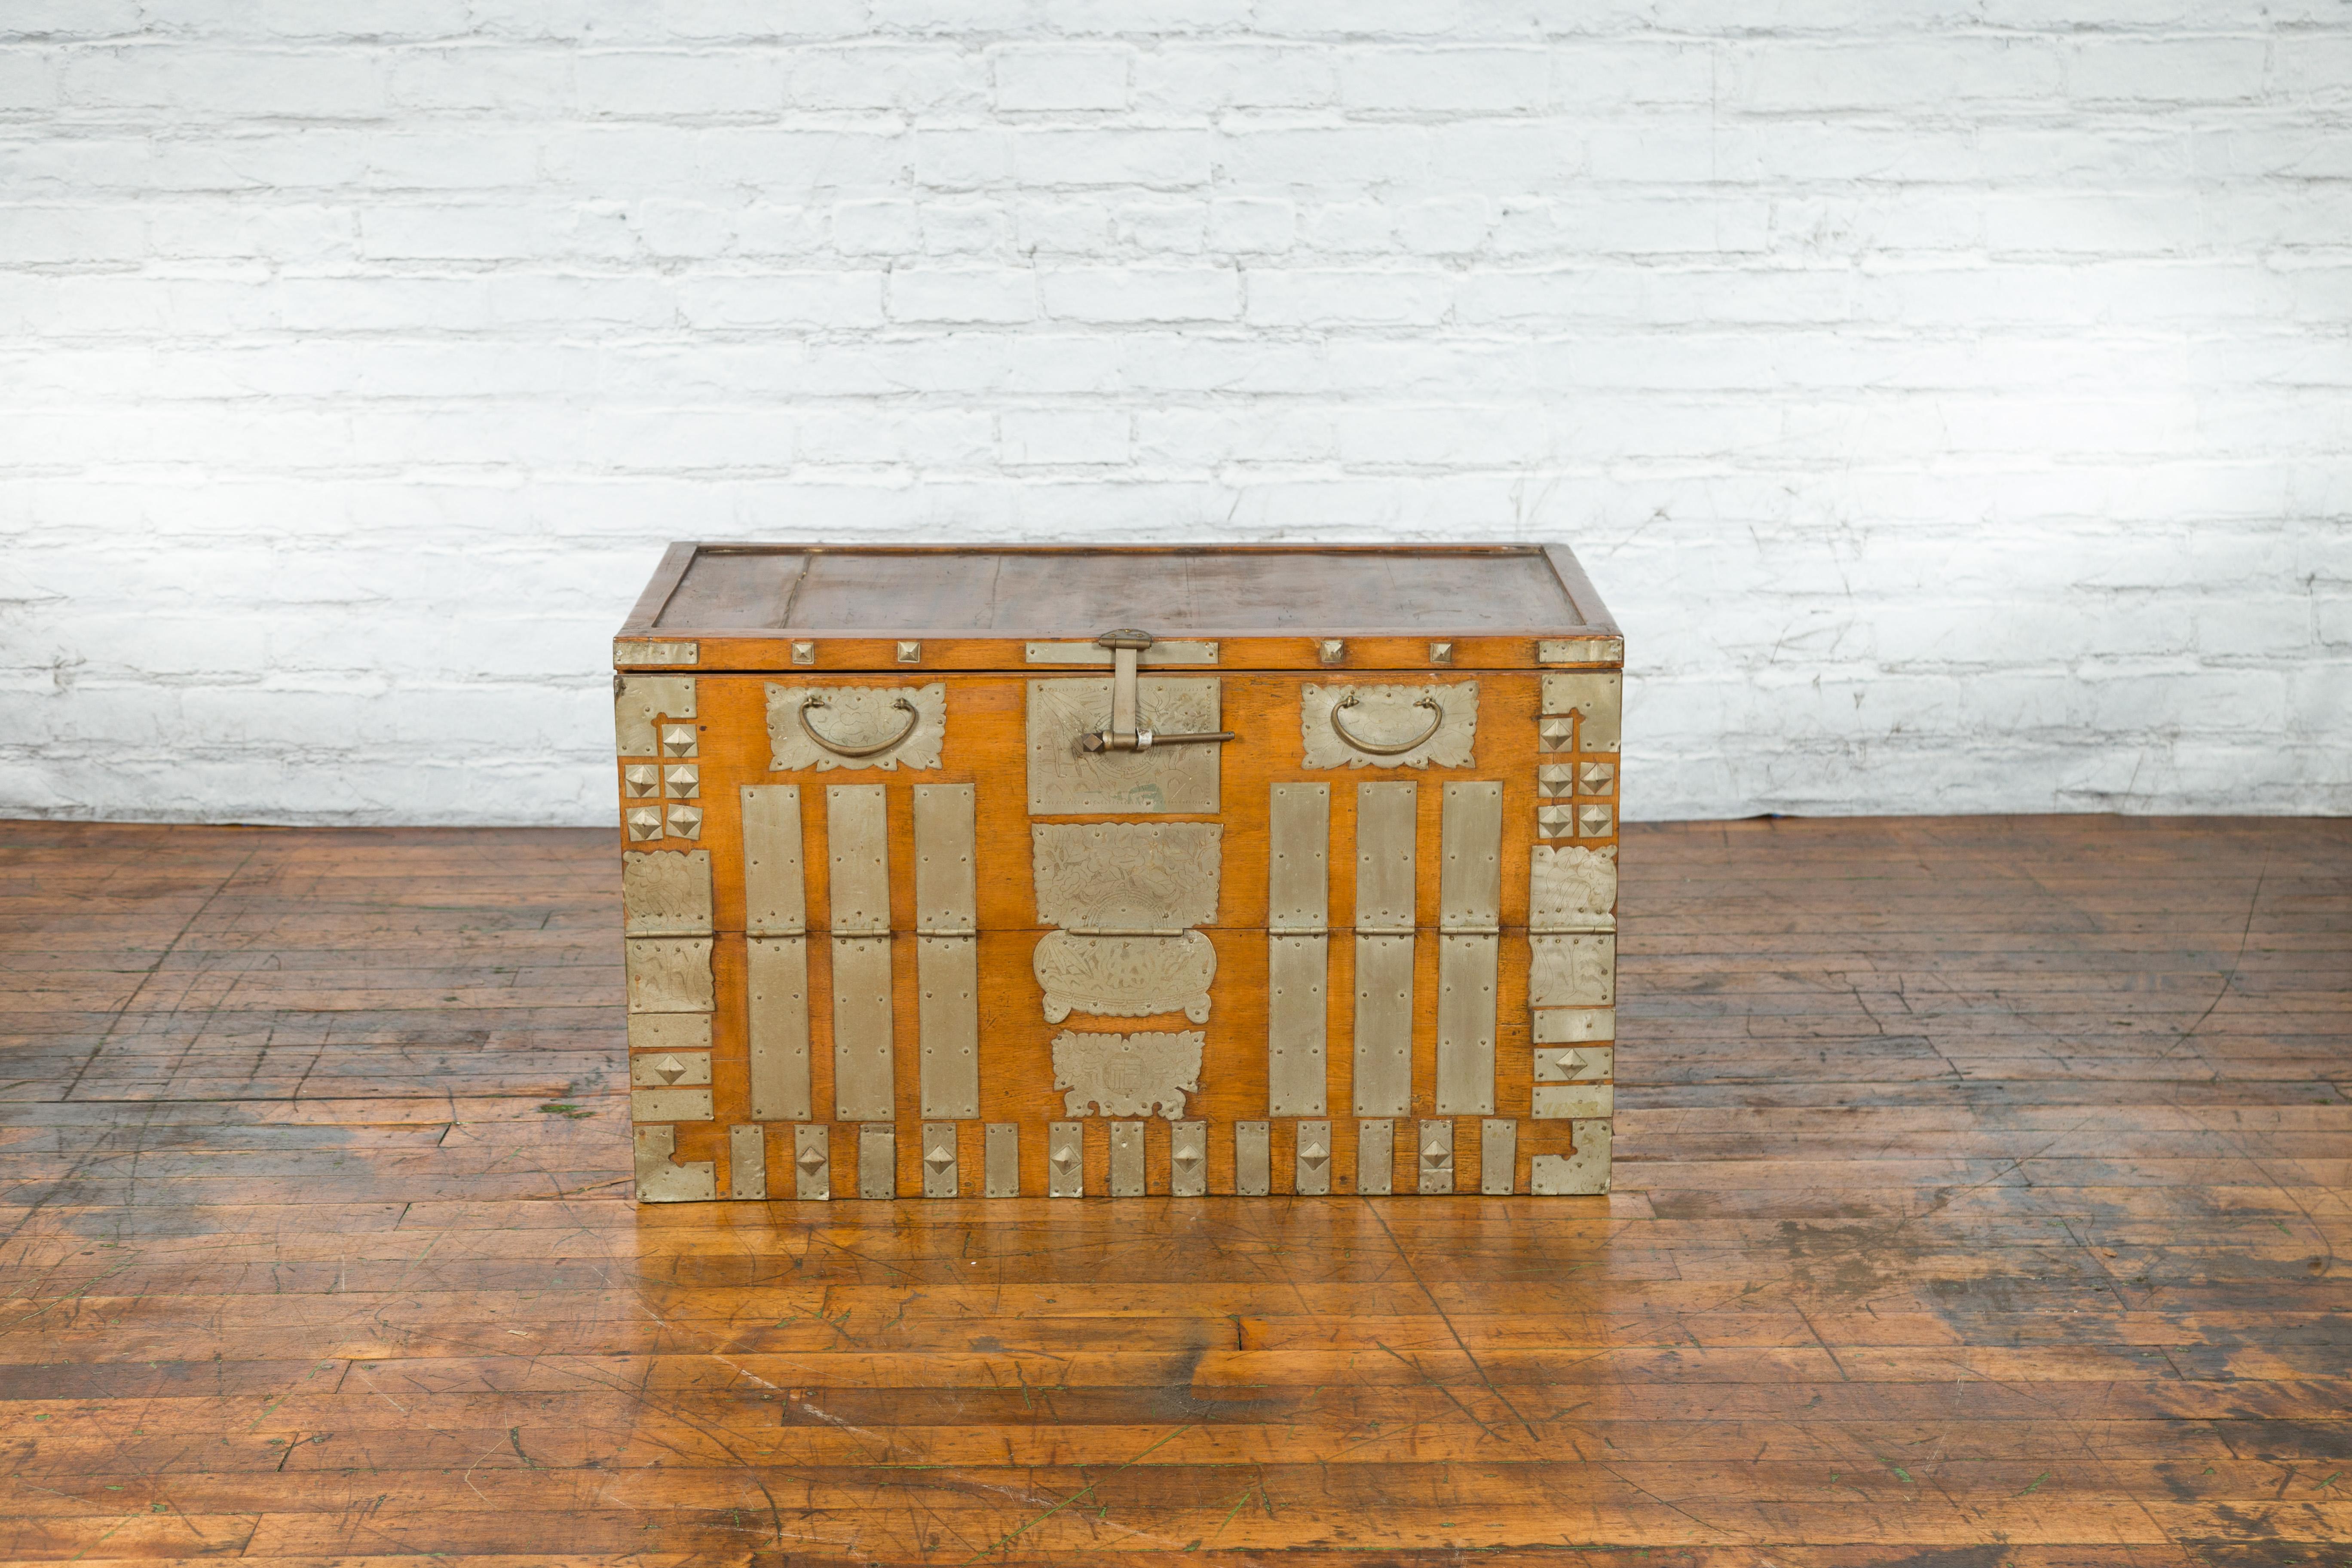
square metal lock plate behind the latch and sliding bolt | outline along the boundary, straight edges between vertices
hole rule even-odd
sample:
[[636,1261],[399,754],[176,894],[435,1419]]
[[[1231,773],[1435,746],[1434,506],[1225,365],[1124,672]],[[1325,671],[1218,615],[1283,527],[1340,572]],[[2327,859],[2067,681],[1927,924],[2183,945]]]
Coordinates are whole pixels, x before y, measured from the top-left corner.
[[[1157,733],[1223,729],[1214,677],[1138,679],[1136,705],[1143,726]],[[1030,816],[1218,811],[1223,745],[1169,745],[1148,752],[1080,750],[1080,738],[1101,731],[1108,719],[1108,679],[1028,682]]]

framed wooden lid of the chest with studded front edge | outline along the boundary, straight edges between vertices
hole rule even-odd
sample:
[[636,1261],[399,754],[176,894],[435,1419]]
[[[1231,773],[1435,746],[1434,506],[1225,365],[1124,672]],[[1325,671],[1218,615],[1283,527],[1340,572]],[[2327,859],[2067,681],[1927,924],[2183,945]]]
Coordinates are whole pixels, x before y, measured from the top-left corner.
[[1618,668],[1564,545],[677,543],[614,639],[621,670]]

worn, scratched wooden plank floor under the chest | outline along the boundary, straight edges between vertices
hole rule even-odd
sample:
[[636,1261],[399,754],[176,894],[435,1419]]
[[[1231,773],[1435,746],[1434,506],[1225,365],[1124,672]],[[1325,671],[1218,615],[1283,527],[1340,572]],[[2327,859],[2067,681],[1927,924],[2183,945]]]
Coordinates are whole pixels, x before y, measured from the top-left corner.
[[614,884],[0,823],[0,1556],[2352,1561],[2352,823],[1628,830],[1611,1199],[640,1211]]

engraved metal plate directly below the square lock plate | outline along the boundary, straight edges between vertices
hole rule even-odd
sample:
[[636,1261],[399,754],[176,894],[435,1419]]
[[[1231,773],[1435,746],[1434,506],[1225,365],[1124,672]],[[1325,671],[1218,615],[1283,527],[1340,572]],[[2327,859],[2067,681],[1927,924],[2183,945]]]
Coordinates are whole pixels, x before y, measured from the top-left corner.
[[1218,823],[1035,823],[1037,919],[1098,936],[1211,926],[1223,842]]

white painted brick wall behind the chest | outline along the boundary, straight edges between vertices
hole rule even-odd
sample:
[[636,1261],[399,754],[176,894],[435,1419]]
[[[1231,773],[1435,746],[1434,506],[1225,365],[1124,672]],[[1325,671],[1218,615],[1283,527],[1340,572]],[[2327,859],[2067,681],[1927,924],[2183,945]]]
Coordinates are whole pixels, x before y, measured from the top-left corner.
[[670,538],[1550,538],[1642,816],[2352,809],[2338,0],[9,0],[0,811],[612,820]]

